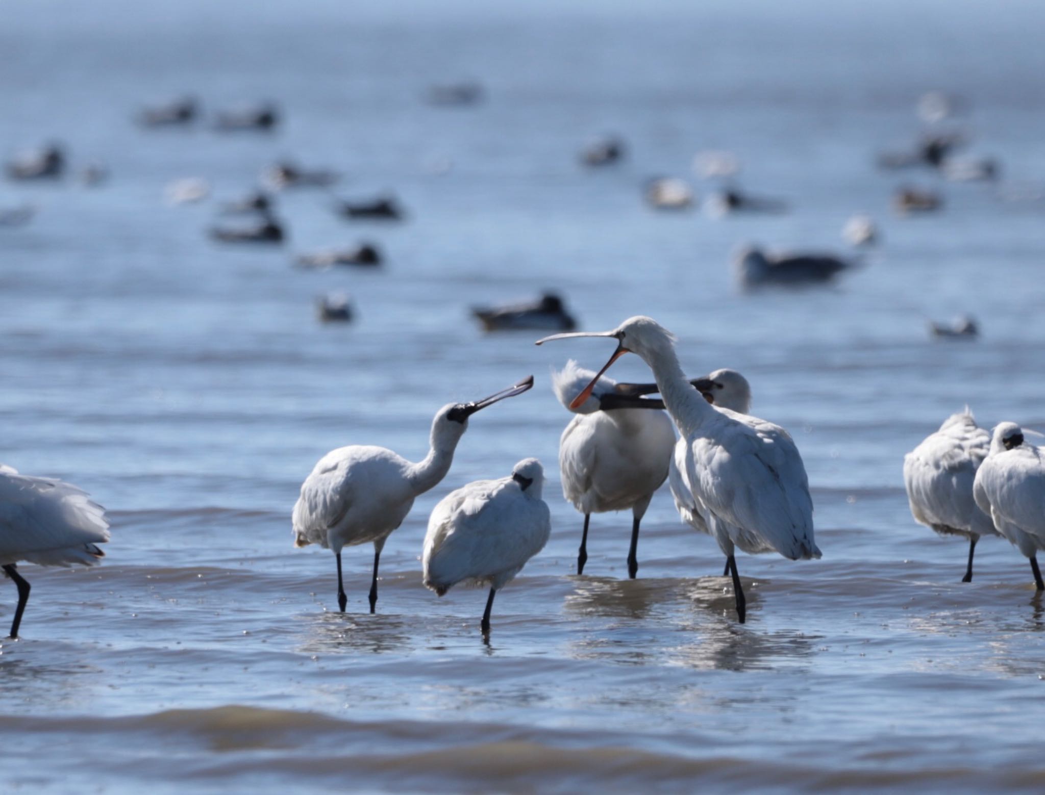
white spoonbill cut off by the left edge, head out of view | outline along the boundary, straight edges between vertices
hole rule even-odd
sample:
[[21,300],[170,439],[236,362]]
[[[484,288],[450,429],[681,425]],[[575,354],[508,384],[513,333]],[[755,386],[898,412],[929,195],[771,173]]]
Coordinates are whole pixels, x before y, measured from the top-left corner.
[[52,477],[31,477],[0,464],[0,567],[18,587],[18,607],[10,636],[29,601],[29,583],[16,564],[93,566],[104,553],[96,546],[109,540],[106,509],[87,492]]

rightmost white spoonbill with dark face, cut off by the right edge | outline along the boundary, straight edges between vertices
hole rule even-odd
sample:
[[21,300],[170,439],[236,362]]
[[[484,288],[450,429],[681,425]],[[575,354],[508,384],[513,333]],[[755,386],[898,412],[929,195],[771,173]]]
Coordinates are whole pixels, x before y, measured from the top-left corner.
[[976,505],[994,527],[1030,559],[1038,590],[1045,590],[1038,551],[1045,550],[1045,461],[1042,448],[1023,441],[1015,422],[995,426],[991,451],[973,481]]

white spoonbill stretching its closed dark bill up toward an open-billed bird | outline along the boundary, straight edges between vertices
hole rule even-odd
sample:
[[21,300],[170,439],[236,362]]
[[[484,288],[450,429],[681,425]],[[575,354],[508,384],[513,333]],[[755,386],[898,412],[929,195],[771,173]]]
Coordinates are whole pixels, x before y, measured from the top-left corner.
[[374,574],[370,612],[377,604],[377,564],[392,531],[407,518],[414,498],[435,487],[449,471],[454,450],[468,429],[468,418],[481,408],[533,387],[533,376],[471,403],[448,403],[432,422],[432,448],[424,461],[413,463],[392,450],[354,444],[331,450],[301,485],[294,506],[294,545],[320,544],[338,560],[338,605],[345,612],[348,598],[341,578],[341,551],[373,543]]

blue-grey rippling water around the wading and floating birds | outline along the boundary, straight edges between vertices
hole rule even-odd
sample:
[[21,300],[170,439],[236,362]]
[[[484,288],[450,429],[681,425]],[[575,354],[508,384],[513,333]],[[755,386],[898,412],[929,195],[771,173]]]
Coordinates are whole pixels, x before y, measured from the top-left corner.
[[[85,187],[0,184],[0,460],[69,480],[110,512],[90,570],[25,566],[22,639],[0,648],[0,789],[13,792],[1040,792],[1045,604],[1026,560],[910,517],[905,451],[970,404],[1045,428],[1045,11],[1031,2],[652,4],[134,3],[13,0],[0,19],[0,154],[63,142]],[[480,81],[439,108],[432,83]],[[876,169],[920,130],[926,90],[967,99],[969,151],[1000,183]],[[271,99],[272,134],[209,121],[146,131],[144,104],[205,113]],[[616,133],[619,166],[580,146]],[[792,211],[656,213],[652,176],[729,149],[740,183]],[[348,223],[323,191],[279,196],[282,247],[205,235],[279,158],[342,172],[341,196],[395,191],[401,225]],[[449,169],[447,170],[447,165]],[[171,206],[164,188],[208,180]],[[899,218],[901,183],[945,208]],[[837,286],[738,294],[742,241],[844,251],[852,214],[883,242]],[[308,273],[293,254],[373,239],[386,266]],[[627,514],[560,496],[568,414],[549,388],[600,341],[484,336],[472,304],[559,290],[586,329],[645,313],[694,375],[744,372],[752,412],[789,428],[820,561],[741,556],[738,625],[713,541],[667,489],[626,579]],[[314,301],[352,295],[322,325]],[[976,317],[934,343],[927,319]],[[632,359],[632,360],[627,360]],[[327,450],[426,451],[434,412],[534,373],[478,415],[454,467],[382,556],[292,546],[298,488]],[[618,377],[649,377],[637,357]],[[421,585],[428,512],[449,490],[540,458],[552,540],[498,597]],[[6,629],[15,588],[0,582]]]

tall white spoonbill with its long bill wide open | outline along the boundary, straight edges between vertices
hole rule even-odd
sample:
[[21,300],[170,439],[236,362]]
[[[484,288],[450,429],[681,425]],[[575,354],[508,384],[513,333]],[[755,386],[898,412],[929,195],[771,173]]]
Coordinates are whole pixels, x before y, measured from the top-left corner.
[[[791,560],[820,557],[813,538],[809,478],[798,448],[777,425],[712,406],[682,374],[671,332],[650,318],[630,318],[612,331],[553,334],[539,343],[570,336],[617,340],[617,350],[598,375],[629,352],[653,370],[668,413],[686,440],[684,471],[693,500],[726,556],[737,615],[743,623],[746,600],[736,546],[749,554],[776,552]],[[574,399],[574,405],[587,400],[594,388],[595,381]]]

